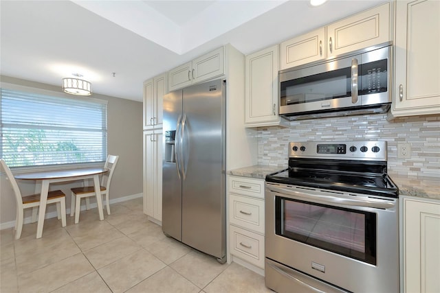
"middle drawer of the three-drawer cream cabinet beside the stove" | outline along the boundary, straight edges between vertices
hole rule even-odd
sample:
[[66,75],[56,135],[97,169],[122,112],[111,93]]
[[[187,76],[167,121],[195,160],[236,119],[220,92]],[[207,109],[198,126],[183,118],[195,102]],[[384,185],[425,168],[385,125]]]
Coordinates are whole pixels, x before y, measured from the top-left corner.
[[229,222],[264,234],[264,200],[230,194]]

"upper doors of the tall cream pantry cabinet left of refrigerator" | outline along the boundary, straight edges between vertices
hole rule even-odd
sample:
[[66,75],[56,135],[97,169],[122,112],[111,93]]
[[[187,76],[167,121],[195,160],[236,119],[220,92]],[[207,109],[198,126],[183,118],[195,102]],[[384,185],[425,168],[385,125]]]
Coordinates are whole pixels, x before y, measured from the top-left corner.
[[166,95],[166,73],[144,82],[144,130],[162,128],[163,97]]

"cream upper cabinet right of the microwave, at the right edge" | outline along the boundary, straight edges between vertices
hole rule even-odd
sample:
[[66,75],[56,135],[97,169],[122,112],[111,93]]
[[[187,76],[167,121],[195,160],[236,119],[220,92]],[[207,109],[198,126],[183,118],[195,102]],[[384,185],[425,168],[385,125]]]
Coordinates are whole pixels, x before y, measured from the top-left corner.
[[440,1],[396,1],[394,117],[440,113]]

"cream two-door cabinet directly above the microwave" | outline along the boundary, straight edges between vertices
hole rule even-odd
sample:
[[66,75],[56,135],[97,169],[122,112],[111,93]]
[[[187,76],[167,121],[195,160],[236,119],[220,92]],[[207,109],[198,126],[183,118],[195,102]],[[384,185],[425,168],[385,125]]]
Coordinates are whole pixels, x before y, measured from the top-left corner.
[[390,3],[371,8],[281,43],[280,69],[288,69],[391,40]]

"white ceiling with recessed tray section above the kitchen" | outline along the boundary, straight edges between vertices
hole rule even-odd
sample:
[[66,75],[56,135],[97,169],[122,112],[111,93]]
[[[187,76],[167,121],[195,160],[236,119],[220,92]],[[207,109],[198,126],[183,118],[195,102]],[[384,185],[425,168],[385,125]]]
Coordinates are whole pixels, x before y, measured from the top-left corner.
[[144,80],[223,44],[250,54],[383,2],[0,0],[0,73],[142,101]]

